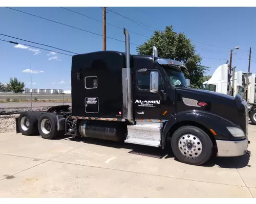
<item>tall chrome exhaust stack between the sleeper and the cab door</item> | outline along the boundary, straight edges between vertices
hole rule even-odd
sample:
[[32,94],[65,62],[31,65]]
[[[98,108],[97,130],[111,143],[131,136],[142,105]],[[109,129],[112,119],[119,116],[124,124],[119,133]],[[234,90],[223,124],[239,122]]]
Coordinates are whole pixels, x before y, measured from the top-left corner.
[[132,76],[130,67],[130,35],[123,29],[125,36],[125,64],[122,69],[122,92],[123,92],[123,118],[133,123],[133,95],[132,95]]

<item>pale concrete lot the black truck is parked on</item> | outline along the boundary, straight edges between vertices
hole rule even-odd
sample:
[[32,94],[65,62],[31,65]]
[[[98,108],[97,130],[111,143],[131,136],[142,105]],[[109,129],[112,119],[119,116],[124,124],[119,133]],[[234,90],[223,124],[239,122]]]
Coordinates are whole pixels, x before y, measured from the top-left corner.
[[250,157],[191,166],[164,151],[162,159],[130,153],[156,151],[144,146],[4,133],[0,197],[256,197],[255,135],[250,125]]

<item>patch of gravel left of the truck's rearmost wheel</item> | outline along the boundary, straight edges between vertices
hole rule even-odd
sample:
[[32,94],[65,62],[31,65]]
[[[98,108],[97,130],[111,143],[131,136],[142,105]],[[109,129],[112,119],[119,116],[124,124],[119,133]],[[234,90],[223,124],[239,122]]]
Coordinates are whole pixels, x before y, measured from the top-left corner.
[[15,117],[19,114],[14,115],[0,115],[0,133],[16,132]]

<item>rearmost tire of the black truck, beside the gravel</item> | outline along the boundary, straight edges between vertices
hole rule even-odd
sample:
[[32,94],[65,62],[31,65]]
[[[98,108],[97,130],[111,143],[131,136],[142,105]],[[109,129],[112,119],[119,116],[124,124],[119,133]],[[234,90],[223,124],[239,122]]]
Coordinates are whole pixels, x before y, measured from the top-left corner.
[[19,115],[18,129],[20,133],[27,136],[38,134],[38,113],[35,111],[26,111]]

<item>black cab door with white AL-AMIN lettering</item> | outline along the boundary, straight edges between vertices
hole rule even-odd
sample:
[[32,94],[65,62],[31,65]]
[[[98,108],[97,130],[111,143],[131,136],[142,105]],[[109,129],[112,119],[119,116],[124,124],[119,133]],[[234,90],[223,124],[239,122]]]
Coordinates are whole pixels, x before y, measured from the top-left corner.
[[[157,69],[134,70],[133,109],[135,119],[167,119],[170,116],[170,101],[162,74],[159,72],[159,93],[150,92],[151,71]],[[174,108],[174,107],[173,107]]]

